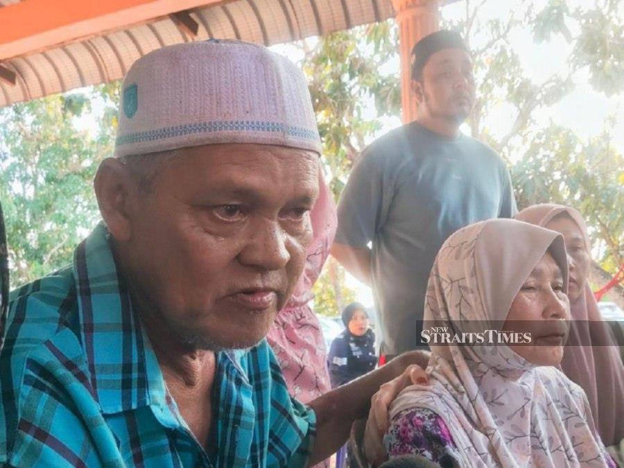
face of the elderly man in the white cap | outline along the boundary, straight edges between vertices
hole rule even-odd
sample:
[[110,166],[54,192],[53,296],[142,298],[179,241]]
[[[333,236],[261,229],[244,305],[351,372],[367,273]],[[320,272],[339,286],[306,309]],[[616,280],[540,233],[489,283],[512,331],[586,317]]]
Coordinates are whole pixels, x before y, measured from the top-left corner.
[[304,267],[318,171],[318,155],[281,146],[178,151],[132,209],[134,294],[184,343],[256,344]]

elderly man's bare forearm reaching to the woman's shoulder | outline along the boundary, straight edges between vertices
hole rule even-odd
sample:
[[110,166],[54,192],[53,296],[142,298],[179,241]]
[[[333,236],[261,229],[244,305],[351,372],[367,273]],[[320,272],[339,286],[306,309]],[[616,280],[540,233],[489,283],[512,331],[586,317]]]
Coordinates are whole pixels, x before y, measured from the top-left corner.
[[[423,369],[428,360],[428,352],[401,354],[383,367],[311,401],[309,406],[316,414],[316,440],[309,465],[325,460],[345,444],[353,422],[367,417],[371,399],[380,388],[397,395],[411,383],[426,381]],[[390,402],[379,408],[382,413],[385,410],[386,418]]]

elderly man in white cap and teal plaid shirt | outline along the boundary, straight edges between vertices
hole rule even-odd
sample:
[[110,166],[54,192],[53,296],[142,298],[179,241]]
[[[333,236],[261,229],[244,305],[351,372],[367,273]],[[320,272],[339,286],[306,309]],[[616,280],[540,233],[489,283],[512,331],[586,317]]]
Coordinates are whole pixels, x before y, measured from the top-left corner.
[[263,339],[304,266],[319,154],[279,55],[209,41],[141,58],[94,181],[103,223],[12,293],[0,464],[304,466],[379,385],[401,388],[413,356],[303,406]]

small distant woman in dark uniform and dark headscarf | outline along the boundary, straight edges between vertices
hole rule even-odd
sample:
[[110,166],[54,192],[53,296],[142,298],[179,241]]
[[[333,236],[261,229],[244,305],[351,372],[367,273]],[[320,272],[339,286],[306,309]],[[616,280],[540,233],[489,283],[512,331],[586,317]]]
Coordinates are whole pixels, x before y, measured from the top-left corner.
[[377,363],[375,334],[369,327],[362,304],[352,302],[343,310],[345,331],[336,336],[329,349],[329,378],[336,388],[372,371]]

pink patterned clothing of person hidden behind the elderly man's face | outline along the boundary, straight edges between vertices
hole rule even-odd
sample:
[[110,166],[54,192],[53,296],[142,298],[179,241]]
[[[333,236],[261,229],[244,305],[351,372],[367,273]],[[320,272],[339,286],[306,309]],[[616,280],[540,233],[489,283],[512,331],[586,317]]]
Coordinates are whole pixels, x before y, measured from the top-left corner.
[[336,234],[336,205],[322,173],[320,193],[311,212],[313,241],[308,249],[306,266],[291,299],[281,309],[268,336],[291,395],[308,403],[328,392],[327,349],[318,318],[308,303],[313,297],[312,286]]

